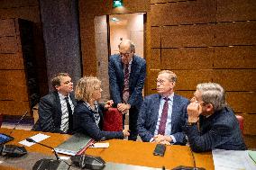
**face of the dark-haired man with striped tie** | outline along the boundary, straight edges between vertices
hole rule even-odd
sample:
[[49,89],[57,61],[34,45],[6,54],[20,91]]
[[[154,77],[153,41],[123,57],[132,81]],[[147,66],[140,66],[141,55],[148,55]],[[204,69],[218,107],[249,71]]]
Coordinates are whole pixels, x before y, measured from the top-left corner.
[[71,78],[69,76],[62,76],[60,78],[60,85],[57,85],[56,89],[60,94],[67,96],[73,91],[73,83],[71,82]]

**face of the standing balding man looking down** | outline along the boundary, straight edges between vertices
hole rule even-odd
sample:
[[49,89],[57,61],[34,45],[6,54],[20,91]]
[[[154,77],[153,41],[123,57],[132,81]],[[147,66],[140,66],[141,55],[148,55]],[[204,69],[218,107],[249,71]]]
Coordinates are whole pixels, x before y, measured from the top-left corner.
[[121,44],[119,53],[123,64],[129,64],[133,58],[133,51],[130,48],[130,44]]

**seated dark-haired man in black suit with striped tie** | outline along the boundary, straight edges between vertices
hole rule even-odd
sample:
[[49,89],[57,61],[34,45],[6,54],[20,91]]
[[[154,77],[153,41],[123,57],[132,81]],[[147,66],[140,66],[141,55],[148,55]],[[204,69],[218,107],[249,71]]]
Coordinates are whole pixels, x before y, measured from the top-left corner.
[[67,73],[59,73],[51,79],[54,92],[41,98],[39,120],[32,130],[54,133],[72,133],[73,111],[76,104],[73,83]]

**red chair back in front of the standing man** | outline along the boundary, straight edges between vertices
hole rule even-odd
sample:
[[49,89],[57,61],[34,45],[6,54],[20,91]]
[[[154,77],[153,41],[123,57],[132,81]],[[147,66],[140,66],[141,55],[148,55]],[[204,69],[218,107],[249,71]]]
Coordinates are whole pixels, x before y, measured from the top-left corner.
[[103,130],[105,131],[122,131],[123,114],[116,108],[109,108],[104,112]]

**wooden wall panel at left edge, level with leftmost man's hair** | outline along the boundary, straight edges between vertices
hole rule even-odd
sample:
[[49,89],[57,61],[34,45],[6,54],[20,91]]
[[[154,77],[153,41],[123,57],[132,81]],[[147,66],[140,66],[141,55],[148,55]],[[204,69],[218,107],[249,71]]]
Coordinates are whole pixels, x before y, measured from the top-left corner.
[[26,85],[24,70],[0,70],[0,85]]

